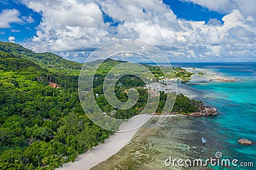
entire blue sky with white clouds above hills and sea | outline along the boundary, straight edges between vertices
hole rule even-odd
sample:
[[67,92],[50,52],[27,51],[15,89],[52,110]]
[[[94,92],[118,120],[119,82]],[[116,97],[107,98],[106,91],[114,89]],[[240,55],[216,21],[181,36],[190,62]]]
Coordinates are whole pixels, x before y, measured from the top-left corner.
[[104,43],[132,38],[156,45],[174,61],[255,60],[253,0],[0,3],[0,41],[35,52],[83,61]]

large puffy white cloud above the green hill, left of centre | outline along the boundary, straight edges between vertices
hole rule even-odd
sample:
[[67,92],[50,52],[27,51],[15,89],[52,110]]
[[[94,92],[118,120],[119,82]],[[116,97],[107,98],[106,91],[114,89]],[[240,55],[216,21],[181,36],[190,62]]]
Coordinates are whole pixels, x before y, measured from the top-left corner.
[[109,41],[109,24],[104,23],[96,3],[79,1],[24,1],[42,13],[42,22],[32,38],[35,51],[67,51],[99,46]]

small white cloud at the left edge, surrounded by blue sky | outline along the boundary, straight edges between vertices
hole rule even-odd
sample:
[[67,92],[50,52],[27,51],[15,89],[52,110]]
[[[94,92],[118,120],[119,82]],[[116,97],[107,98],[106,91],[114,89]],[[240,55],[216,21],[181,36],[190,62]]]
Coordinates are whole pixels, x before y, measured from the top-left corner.
[[12,9],[5,9],[0,13],[0,28],[10,28],[10,24],[13,22],[22,22],[19,18],[19,11]]

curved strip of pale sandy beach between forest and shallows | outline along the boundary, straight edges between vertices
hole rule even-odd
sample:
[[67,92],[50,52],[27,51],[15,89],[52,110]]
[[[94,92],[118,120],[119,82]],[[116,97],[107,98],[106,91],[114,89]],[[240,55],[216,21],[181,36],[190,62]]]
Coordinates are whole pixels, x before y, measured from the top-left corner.
[[[138,129],[140,129],[141,124],[147,122],[150,117],[152,117],[152,115],[137,115],[130,118],[127,122],[120,125],[120,131],[126,132],[116,132],[113,136],[106,139],[105,143],[100,143],[98,146],[95,146],[93,150],[80,155],[76,162],[63,164],[63,167],[58,168],[58,170],[86,170],[107,160],[127,145]],[[127,129],[133,129],[132,127],[138,128],[127,131]]]

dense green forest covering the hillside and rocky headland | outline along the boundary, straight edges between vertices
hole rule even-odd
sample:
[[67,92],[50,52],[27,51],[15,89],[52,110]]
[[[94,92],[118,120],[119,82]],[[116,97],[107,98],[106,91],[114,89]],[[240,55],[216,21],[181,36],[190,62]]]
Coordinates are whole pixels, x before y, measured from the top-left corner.
[[[106,60],[95,75],[95,99],[108,114],[115,108],[106,102],[101,83],[118,63]],[[113,134],[84,114],[77,92],[81,66],[53,53],[34,53],[0,42],[0,169],[54,169]],[[154,69],[156,77],[161,76],[159,67],[148,67]],[[148,95],[147,89],[138,88],[143,86],[136,76],[124,76],[116,83],[120,101],[128,99],[125,90],[132,87],[140,98],[129,110],[115,110],[113,117],[130,118],[140,113]],[[157,112],[163,110],[165,100],[166,94],[161,92]],[[198,109],[196,104],[179,95],[173,111],[191,113]]]

